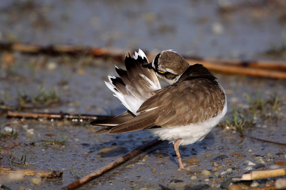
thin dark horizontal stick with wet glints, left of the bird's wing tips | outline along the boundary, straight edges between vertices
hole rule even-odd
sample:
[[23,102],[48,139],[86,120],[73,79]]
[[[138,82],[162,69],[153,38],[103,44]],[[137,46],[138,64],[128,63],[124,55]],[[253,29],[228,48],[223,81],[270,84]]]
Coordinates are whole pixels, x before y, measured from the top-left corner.
[[83,120],[102,120],[108,119],[113,116],[99,116],[99,115],[88,115],[88,114],[67,114],[67,113],[33,113],[33,112],[18,112],[18,111],[8,111],[7,118],[30,118],[30,119],[83,119]]

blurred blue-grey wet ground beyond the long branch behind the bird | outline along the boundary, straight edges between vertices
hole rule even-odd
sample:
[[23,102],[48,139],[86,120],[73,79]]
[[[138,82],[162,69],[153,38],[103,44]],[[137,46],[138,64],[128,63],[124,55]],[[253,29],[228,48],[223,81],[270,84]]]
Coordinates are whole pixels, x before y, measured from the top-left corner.
[[[285,48],[284,0],[0,3],[0,41],[252,59]],[[285,56],[285,55],[284,55]]]

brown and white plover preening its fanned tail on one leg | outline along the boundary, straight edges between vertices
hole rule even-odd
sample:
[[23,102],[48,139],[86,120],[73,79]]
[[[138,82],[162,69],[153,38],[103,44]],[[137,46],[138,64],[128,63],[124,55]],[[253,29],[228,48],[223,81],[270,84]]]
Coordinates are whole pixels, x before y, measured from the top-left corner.
[[[106,86],[127,111],[90,124],[104,126],[94,135],[148,130],[174,144],[179,168],[185,169],[179,145],[201,141],[225,116],[227,98],[217,78],[202,64],[190,65],[173,50],[160,52],[149,63],[139,49],[125,56],[126,70],[108,76]],[[170,85],[162,88],[158,77]]]

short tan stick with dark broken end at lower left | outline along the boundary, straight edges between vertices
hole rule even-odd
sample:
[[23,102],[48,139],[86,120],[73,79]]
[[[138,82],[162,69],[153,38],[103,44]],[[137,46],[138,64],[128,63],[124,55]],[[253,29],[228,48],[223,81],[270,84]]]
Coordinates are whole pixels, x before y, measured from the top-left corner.
[[47,177],[51,179],[57,179],[63,177],[62,171],[40,171],[40,170],[30,170],[30,169],[11,169],[0,167],[0,174],[8,173],[22,173],[24,176],[30,176],[35,174],[40,174],[41,177]]

